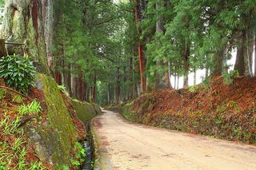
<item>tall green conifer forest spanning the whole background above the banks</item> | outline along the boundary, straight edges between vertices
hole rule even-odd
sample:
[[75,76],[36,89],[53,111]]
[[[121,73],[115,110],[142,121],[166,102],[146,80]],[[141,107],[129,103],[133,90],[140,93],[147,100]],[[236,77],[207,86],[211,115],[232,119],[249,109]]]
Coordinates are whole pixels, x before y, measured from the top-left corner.
[[206,77],[220,76],[230,68],[234,50],[239,75],[255,72],[255,0],[36,0],[27,5],[18,13],[7,10],[12,22],[4,33],[10,37],[17,26],[31,29],[22,30],[32,33],[31,55],[47,55],[58,84],[82,101],[126,101],[177,88],[180,77],[186,87],[198,69],[206,69]]

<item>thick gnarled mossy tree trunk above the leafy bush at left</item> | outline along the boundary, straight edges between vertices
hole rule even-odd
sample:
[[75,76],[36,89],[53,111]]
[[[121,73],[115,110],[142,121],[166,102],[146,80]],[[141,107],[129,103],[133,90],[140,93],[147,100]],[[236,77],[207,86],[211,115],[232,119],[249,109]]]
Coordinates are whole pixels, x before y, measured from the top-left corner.
[[[7,42],[22,42],[22,46],[8,46],[10,54],[26,54],[37,61],[38,71],[50,74],[46,57],[45,22],[42,10],[45,3],[41,0],[9,0],[5,4],[5,17],[3,18],[2,33]],[[46,11],[48,14],[48,11]]]

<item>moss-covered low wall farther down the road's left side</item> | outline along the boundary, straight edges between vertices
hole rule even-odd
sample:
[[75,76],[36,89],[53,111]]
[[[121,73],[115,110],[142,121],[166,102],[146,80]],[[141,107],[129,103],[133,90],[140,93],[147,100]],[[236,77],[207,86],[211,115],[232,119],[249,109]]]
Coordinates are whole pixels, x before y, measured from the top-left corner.
[[90,119],[101,113],[101,109],[98,107],[98,105],[92,105],[90,103],[77,100],[72,100],[72,105],[78,115],[78,118],[82,122],[90,121]]

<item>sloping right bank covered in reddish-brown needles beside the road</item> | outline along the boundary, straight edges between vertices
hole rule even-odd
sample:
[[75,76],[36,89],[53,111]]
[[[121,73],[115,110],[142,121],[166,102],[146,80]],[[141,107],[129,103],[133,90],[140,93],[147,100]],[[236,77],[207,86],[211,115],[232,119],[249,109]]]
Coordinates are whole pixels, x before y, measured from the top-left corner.
[[[256,77],[214,77],[118,106],[129,121],[256,144]],[[116,107],[116,106],[114,106]]]

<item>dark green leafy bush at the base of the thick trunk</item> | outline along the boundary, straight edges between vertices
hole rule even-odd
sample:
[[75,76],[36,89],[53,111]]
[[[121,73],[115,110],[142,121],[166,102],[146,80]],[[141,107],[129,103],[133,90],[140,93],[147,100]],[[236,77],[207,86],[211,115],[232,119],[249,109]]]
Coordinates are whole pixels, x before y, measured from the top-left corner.
[[29,86],[34,84],[35,73],[36,68],[27,56],[14,54],[0,59],[0,78],[4,78],[6,85],[18,92],[28,93]]

